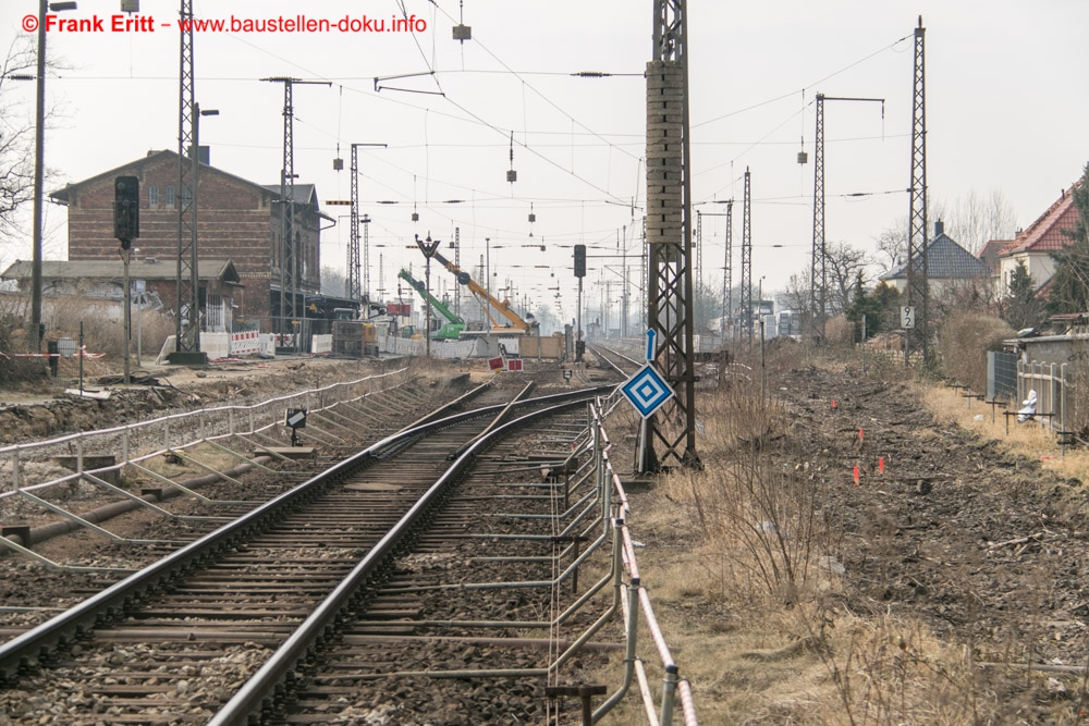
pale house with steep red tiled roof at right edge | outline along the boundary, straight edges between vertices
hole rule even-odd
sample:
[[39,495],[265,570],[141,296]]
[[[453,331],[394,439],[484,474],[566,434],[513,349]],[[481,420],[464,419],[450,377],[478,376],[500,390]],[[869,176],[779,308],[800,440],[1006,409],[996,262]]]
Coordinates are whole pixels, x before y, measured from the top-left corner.
[[1042,290],[1055,274],[1055,260],[1051,254],[1070,244],[1070,237],[1066,232],[1073,232],[1077,225],[1078,208],[1074,204],[1074,190],[1079,184],[1080,180],[1069,189],[1063,189],[1062,195],[1048,208],[1048,211],[1025,227],[998,254],[1001,296],[1008,295],[1010,280],[1019,263],[1025,264],[1037,290]]

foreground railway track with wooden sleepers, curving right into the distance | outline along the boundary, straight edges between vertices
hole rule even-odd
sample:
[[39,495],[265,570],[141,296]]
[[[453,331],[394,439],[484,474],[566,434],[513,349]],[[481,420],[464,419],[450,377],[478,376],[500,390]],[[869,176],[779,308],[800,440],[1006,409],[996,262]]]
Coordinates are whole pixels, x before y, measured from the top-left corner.
[[[555,682],[574,653],[552,652],[555,632],[499,643],[585,617],[541,617],[561,607],[561,580],[577,585],[577,567],[559,563],[592,538],[585,521],[558,525],[570,493],[542,484],[539,465],[567,458],[587,395],[484,406],[387,438],[4,643],[0,702],[19,713],[25,696],[24,713],[88,724],[326,723],[362,721],[360,710],[400,713],[388,723],[540,722],[541,680]],[[546,416],[561,418],[537,422]],[[538,458],[525,441],[484,455],[492,441],[481,434],[509,435],[527,418],[551,441]],[[443,680],[465,692],[443,690],[442,707],[428,709],[435,689],[419,679],[451,672],[460,679]],[[391,699],[379,677],[407,685]]]

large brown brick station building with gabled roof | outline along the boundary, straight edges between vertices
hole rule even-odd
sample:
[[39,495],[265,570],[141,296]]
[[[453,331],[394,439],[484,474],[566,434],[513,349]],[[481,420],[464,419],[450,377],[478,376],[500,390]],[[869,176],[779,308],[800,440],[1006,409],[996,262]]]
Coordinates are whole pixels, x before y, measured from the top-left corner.
[[[69,184],[50,198],[69,209],[69,260],[117,260],[113,237],[113,181],[117,176],[139,179],[139,231],[133,242],[140,259],[156,260],[167,269],[178,266],[178,153],[149,151],[96,176]],[[192,179],[192,177],[191,177]],[[280,187],[262,186],[200,164],[197,213],[197,249],[200,262],[231,262],[241,284],[229,291],[200,285],[201,309],[233,310],[235,317],[259,323],[260,330],[277,329],[280,312]],[[307,295],[321,288],[321,230],[333,223],[318,204],[313,184],[295,185],[295,310],[305,309]],[[201,280],[204,270],[201,269]],[[285,275],[291,280],[290,271]],[[284,285],[291,291],[290,282]],[[163,303],[173,308],[176,288],[161,291]]]

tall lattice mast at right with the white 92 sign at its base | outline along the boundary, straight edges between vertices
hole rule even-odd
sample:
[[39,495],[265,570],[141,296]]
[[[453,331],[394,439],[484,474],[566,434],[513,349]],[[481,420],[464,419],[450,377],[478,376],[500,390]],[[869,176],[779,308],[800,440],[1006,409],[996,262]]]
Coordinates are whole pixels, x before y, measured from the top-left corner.
[[926,35],[922,16],[915,28],[915,74],[911,102],[911,186],[910,209],[907,216],[907,304],[915,308],[915,329],[908,330],[904,345],[904,362],[913,349],[922,350],[922,360],[929,360],[927,349],[929,285],[927,281],[927,93],[926,93]]

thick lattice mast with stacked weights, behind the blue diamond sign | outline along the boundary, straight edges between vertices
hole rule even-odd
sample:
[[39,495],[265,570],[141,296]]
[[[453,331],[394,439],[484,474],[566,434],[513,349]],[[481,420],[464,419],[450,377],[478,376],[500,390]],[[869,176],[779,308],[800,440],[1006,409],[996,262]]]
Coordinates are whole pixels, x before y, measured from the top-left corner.
[[653,60],[647,64],[647,312],[657,333],[654,360],[676,395],[647,421],[640,470],[699,466],[686,44],[686,1],[656,0]]

